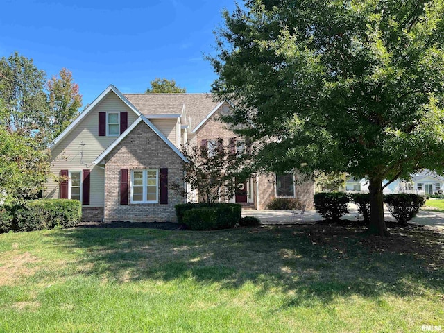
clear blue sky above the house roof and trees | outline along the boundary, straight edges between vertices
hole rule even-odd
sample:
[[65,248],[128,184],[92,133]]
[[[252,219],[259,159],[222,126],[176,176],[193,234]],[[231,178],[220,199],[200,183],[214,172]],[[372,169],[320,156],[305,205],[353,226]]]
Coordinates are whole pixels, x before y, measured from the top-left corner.
[[0,58],[18,51],[48,77],[66,67],[83,105],[111,83],[144,92],[157,77],[209,92],[216,75],[203,54],[214,53],[223,8],[234,0],[3,0]]

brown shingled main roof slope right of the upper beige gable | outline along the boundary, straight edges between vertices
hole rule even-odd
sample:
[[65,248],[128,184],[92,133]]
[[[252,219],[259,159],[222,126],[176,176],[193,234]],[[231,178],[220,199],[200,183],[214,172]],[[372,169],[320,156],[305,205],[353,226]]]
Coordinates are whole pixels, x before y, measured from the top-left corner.
[[[130,103],[137,106],[137,109],[144,115],[153,114],[153,105],[163,108],[162,105],[181,104],[185,105],[187,117],[191,118],[192,123],[200,124],[208,119],[208,114],[218,105],[223,103],[213,100],[212,94],[123,94]],[[171,113],[176,113],[171,111]],[[188,119],[186,119],[188,121]]]

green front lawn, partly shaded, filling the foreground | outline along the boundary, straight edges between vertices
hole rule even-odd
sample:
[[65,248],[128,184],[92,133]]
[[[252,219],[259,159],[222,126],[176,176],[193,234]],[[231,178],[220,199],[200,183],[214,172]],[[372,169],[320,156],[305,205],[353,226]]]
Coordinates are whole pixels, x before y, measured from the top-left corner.
[[444,330],[444,234],[363,230],[0,234],[0,332]]

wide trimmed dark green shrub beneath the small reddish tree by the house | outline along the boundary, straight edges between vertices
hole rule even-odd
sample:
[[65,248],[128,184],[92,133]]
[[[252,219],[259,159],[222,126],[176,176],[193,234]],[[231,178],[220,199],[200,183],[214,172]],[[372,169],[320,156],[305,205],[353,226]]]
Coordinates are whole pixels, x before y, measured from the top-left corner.
[[236,203],[217,203],[185,210],[183,223],[191,230],[234,228],[241,219],[242,207]]

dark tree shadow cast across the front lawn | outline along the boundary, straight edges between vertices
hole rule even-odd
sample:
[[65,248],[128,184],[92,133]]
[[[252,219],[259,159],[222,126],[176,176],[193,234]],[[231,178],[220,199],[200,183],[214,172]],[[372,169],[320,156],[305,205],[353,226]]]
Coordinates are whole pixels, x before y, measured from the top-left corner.
[[60,230],[58,246],[86,254],[79,273],[117,283],[192,279],[237,289],[251,282],[257,297],[280,291],[287,305],[330,303],[354,294],[443,294],[444,234],[425,228],[364,234],[344,225],[293,225],[216,232],[150,229]]

